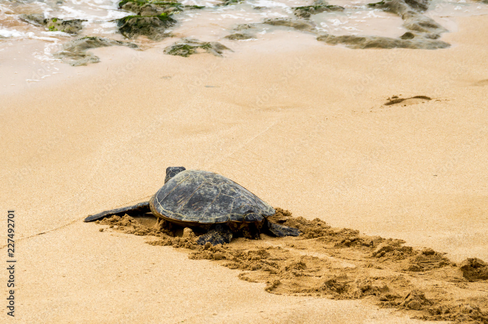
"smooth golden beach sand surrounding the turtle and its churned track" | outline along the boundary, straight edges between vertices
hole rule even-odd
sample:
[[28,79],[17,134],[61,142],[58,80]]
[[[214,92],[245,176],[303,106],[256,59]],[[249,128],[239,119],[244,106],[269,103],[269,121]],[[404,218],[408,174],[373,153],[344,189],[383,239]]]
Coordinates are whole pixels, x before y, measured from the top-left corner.
[[[487,27],[486,16],[460,19],[443,37],[454,46],[435,51],[311,36],[225,58],[103,48],[101,63],[1,94],[2,223],[17,213],[8,320],[422,323],[369,300],[271,294],[218,262],[81,220],[147,199],[167,166],[183,165],[295,216],[487,261]],[[393,95],[432,99],[385,106]]]

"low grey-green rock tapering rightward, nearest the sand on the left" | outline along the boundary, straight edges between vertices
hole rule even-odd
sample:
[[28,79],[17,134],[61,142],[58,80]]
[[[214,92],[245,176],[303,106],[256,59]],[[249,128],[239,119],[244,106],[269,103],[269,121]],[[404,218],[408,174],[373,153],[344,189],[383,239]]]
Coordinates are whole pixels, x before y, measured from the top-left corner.
[[83,37],[71,40],[63,44],[62,50],[55,53],[54,57],[61,58],[72,66],[97,63],[100,58],[93,53],[86,52],[90,48],[106,46],[127,46],[138,48],[136,44],[102,37]]

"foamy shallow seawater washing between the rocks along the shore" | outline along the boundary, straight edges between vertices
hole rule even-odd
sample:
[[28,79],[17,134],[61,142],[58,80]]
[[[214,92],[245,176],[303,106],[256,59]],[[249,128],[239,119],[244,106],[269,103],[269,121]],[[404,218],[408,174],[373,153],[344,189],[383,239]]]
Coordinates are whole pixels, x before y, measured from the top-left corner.
[[[127,40],[118,33],[114,19],[120,19],[132,13],[120,10],[115,0],[0,0],[0,64],[12,62],[10,47],[21,47],[17,51],[23,55],[26,64],[43,62],[46,73],[52,76],[56,71],[49,68],[52,62],[59,61],[53,53],[61,49],[63,43],[82,36],[100,36],[117,40]],[[219,6],[219,0],[183,0],[183,4],[205,6],[203,9],[190,9],[173,17],[178,23],[169,31],[173,38],[152,41],[144,37],[130,39],[142,48],[144,46],[167,46],[179,38],[198,38],[203,41],[240,43],[245,47],[248,41],[264,41],[273,37],[299,37],[300,32],[289,27],[260,24],[264,19],[294,18],[293,7],[310,5],[311,0],[244,0],[242,3]],[[339,5],[344,11],[324,12],[310,17],[319,33],[333,35],[374,35],[400,37],[407,30],[403,20],[392,13],[367,6],[372,0],[330,0],[331,5]],[[258,8],[256,8],[258,7]],[[261,7],[261,8],[259,8]],[[84,19],[83,29],[73,36],[63,32],[48,31],[42,26],[35,26],[19,18],[21,14],[42,14],[45,18]],[[433,0],[424,13],[436,20],[449,31],[455,31],[455,17],[488,14],[488,4],[468,0]],[[230,41],[224,37],[234,33],[239,24],[259,24],[254,31],[256,38]],[[286,31],[286,32],[284,32]],[[287,36],[288,35],[288,36]],[[265,36],[265,37],[264,37]],[[169,40],[168,40],[169,39]],[[284,39],[290,41],[290,39]],[[20,47],[19,47],[20,46]],[[8,54],[7,54],[8,53]],[[10,56],[10,57],[6,57]],[[53,65],[53,64],[51,64]],[[54,65],[53,65],[54,66]],[[12,68],[14,68],[12,66]],[[5,69],[0,69],[2,74]],[[15,71],[13,71],[15,72]],[[12,73],[13,73],[12,72]],[[0,77],[4,77],[1,76]],[[41,81],[40,77],[28,78],[28,82]],[[8,82],[7,82],[8,83]],[[3,82],[3,86],[6,83]]]

